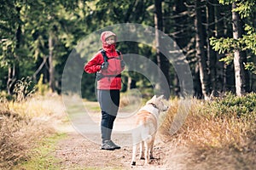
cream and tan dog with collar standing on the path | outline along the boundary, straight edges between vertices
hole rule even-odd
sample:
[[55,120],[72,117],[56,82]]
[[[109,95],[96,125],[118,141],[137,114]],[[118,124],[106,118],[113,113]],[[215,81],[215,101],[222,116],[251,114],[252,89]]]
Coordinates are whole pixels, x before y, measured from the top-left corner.
[[153,159],[153,145],[158,129],[160,111],[167,111],[168,106],[163,103],[163,95],[149,99],[146,105],[136,115],[136,124],[132,132],[132,158],[131,166],[136,165],[137,145],[140,144],[140,158],[145,159],[144,165]]

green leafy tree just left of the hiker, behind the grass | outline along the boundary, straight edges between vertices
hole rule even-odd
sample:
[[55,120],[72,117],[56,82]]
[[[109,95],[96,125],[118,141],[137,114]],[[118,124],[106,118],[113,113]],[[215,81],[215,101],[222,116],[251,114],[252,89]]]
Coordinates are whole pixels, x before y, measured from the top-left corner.
[[[65,60],[86,31],[81,26],[85,8],[84,1],[37,0],[26,9],[27,42],[32,45],[31,53],[37,64],[33,77],[38,81],[38,76],[44,74],[44,82],[52,92],[60,92]],[[76,24],[78,20],[80,24]]]

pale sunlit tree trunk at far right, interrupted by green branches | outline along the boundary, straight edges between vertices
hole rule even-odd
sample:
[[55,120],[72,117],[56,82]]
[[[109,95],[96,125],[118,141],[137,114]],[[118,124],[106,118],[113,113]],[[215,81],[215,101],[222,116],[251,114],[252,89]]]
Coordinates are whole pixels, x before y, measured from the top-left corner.
[[[234,8],[236,8],[236,3],[232,3],[232,9]],[[233,38],[235,40],[241,38],[242,36],[241,25],[239,14],[237,12],[232,12]],[[236,95],[238,96],[242,96],[247,92],[247,80],[244,63],[246,63],[246,54],[240,49],[236,49],[234,52],[234,67],[236,78]]]

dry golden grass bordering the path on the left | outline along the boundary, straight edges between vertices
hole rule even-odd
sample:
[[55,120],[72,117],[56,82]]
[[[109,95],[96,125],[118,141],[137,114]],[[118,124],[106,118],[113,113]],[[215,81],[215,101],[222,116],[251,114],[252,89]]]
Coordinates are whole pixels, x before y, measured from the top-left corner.
[[[58,97],[34,97],[26,101],[0,102],[0,169],[11,169],[31,156],[37,142],[55,133],[51,122]],[[37,154],[37,153],[33,153]]]

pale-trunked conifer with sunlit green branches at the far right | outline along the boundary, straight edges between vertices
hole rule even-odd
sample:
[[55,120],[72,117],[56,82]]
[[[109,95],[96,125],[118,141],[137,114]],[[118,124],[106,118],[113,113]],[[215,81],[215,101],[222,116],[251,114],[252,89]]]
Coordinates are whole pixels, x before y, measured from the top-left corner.
[[[223,60],[230,62],[233,59],[236,75],[236,94],[241,96],[247,92],[248,76],[245,70],[247,65],[246,51],[252,50],[256,54],[255,37],[256,33],[252,26],[246,26],[244,29],[244,18],[247,18],[255,11],[255,2],[247,1],[226,1],[220,0],[223,4],[232,4],[232,29],[233,37],[230,38],[211,38],[211,44],[218,53],[228,53]],[[250,31],[248,31],[250,30]],[[247,35],[244,34],[247,31]],[[253,38],[254,37],[254,38]]]

